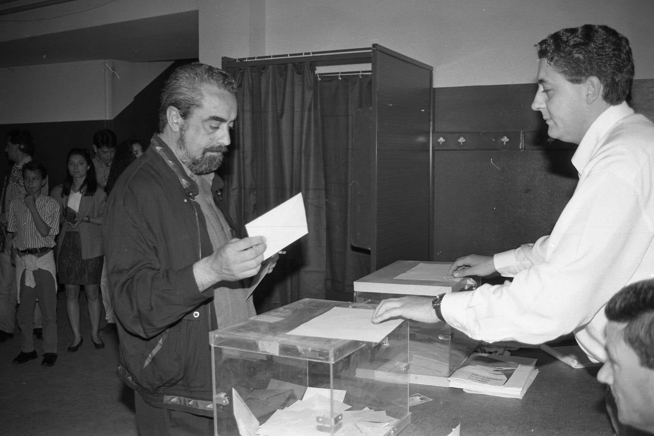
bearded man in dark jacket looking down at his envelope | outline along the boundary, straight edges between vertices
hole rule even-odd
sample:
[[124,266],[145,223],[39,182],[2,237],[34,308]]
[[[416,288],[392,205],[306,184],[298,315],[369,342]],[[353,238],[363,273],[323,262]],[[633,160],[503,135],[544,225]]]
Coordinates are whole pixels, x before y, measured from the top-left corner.
[[109,197],[103,233],[118,373],[135,390],[143,436],[213,435],[207,335],[256,313],[243,279],[273,267],[262,266],[264,237],[235,238],[213,197],[234,92],[233,79],[210,65],[176,69],[163,88],[160,133]]

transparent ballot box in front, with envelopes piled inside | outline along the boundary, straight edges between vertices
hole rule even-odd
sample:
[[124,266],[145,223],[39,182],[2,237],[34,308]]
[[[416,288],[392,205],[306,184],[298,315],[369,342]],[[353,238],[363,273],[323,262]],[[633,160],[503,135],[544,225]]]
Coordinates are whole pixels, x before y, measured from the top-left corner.
[[408,322],[372,324],[374,309],[301,299],[209,333],[216,434],[232,414],[241,435],[399,433],[410,422]]

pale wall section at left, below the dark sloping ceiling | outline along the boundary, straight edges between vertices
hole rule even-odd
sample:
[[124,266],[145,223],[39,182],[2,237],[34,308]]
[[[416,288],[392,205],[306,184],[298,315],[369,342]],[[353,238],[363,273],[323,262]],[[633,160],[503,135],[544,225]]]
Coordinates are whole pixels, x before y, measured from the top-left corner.
[[170,62],[0,68],[0,124],[111,120]]

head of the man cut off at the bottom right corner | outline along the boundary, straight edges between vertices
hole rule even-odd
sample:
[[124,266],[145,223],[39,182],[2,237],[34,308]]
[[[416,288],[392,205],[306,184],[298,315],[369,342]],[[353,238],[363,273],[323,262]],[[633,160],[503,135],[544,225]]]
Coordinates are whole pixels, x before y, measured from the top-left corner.
[[597,379],[613,393],[619,434],[654,434],[654,280],[625,286],[604,308],[606,355]]

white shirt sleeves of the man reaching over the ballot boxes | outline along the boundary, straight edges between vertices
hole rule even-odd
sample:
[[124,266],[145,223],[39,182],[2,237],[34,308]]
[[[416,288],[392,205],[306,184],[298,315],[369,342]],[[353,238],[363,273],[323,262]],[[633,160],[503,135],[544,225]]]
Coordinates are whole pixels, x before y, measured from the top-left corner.
[[549,237],[494,257],[512,282],[445,295],[445,321],[474,339],[532,344],[588,324],[654,239],[650,181],[637,180],[638,162],[619,158],[594,161]]

